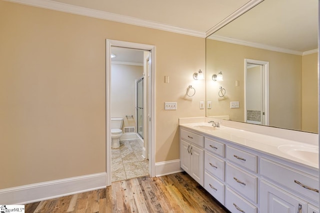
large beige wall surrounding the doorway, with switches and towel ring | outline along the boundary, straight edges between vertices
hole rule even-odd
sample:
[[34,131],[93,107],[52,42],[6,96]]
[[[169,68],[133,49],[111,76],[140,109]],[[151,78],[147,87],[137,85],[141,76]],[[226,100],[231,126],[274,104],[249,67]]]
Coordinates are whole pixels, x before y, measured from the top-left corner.
[[179,117],[205,115],[204,38],[2,0],[0,27],[0,189],[105,172],[106,38],[156,46],[156,162],[179,159]]

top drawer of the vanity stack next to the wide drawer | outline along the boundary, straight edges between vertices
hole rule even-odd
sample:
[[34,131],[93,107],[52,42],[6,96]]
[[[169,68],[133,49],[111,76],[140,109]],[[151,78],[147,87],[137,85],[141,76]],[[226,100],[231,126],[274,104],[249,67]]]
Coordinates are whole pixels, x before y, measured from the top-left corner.
[[248,152],[226,146],[226,158],[252,172],[257,173],[257,156]]

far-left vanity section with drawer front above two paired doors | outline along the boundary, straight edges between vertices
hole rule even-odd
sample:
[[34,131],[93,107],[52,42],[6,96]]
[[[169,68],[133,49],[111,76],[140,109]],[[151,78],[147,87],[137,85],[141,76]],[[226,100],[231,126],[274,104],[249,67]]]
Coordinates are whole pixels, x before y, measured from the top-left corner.
[[204,137],[180,129],[180,164],[196,182],[203,187]]

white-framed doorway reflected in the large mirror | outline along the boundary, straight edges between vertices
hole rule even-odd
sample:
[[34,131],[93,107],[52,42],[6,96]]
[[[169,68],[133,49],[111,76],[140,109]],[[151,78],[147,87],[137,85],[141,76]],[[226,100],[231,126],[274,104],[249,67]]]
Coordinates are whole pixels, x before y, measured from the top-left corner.
[[268,71],[269,62],[244,59],[245,122],[269,124]]

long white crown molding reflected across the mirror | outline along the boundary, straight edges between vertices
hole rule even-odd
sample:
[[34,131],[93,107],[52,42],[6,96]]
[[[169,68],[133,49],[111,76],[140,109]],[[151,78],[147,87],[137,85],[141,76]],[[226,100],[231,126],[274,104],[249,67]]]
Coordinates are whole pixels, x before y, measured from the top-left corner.
[[[220,36],[220,35],[210,35],[208,38],[212,39],[212,40],[224,41],[224,42],[228,42],[228,43],[234,43],[234,44],[250,46],[250,47],[255,47],[255,48],[260,48],[260,49],[266,49],[266,50],[271,50],[271,51],[276,51],[276,52],[283,52],[283,53],[294,54],[294,55],[303,55],[303,52],[301,52],[301,51],[296,51],[296,50],[292,50],[292,49],[286,49],[286,48],[281,48],[281,47],[276,47],[276,46],[271,46],[271,45],[266,45],[266,44],[254,43],[254,42],[249,42],[249,41],[243,41],[243,40],[224,37],[224,36]],[[311,53],[308,53],[308,54],[311,54]]]

